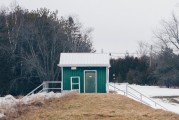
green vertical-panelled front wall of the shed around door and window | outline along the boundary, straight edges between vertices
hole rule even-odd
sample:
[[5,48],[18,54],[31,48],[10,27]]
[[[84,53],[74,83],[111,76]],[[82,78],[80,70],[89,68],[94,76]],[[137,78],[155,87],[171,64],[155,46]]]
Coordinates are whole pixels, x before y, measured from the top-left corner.
[[63,90],[71,90],[70,77],[80,77],[80,92],[84,93],[84,71],[97,71],[97,93],[106,93],[106,67],[77,67],[71,70],[71,67],[63,67]]

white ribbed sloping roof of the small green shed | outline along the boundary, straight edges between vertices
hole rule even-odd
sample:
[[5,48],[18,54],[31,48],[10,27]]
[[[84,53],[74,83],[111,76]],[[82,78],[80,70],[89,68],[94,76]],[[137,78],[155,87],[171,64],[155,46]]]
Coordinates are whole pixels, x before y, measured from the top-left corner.
[[61,53],[60,67],[110,67],[109,54],[102,53]]

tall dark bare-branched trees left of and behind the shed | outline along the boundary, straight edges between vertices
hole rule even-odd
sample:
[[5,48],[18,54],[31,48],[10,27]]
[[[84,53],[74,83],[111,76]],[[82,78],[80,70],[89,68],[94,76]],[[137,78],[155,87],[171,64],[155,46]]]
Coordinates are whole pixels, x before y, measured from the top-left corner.
[[26,94],[44,80],[60,80],[61,52],[94,52],[91,29],[46,8],[0,11],[0,95]]

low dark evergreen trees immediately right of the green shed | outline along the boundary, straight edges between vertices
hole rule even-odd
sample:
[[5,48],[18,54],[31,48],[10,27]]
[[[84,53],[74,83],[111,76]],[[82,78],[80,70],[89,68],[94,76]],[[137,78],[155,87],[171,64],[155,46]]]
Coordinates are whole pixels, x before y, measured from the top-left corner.
[[125,58],[111,59],[110,80],[113,82],[152,84],[149,75],[148,56],[137,58],[127,55]]

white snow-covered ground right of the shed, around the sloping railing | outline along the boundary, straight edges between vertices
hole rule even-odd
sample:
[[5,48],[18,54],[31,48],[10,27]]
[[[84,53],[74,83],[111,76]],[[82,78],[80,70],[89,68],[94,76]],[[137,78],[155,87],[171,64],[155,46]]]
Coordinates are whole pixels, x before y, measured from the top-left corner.
[[[110,83],[110,85],[115,86],[116,88],[126,92],[126,83],[121,83],[121,84],[120,83],[116,83],[116,84]],[[171,102],[168,99],[153,98],[155,96],[161,96],[161,97],[179,96],[179,89],[160,88],[158,86],[140,86],[140,85],[128,85],[128,86],[129,86],[127,88],[128,94],[132,93],[134,97],[139,98],[137,101],[140,101],[142,99],[142,101],[144,101],[146,104],[148,104],[149,106],[151,106],[153,108],[162,108],[161,106],[163,106],[168,111],[172,111],[172,112],[179,114],[179,104]],[[148,98],[146,98],[145,96],[141,96],[140,93],[131,89],[130,87],[137,90],[138,92],[142,93],[146,97],[150,98],[150,100]],[[111,86],[109,86],[109,89],[117,91],[118,94],[124,95],[123,92],[120,92]],[[131,96],[128,96],[128,97],[136,100],[135,98],[133,98]],[[175,98],[175,100],[179,100],[179,98]],[[155,104],[154,101],[156,103],[160,104],[161,106]],[[162,109],[164,109],[164,108],[162,108]]]

